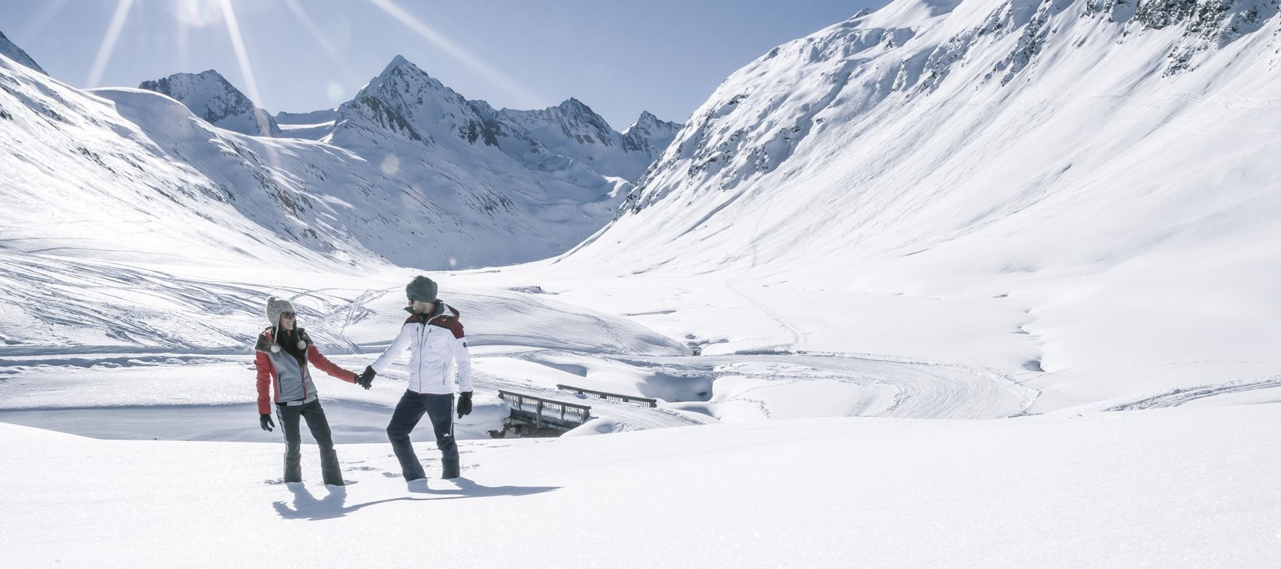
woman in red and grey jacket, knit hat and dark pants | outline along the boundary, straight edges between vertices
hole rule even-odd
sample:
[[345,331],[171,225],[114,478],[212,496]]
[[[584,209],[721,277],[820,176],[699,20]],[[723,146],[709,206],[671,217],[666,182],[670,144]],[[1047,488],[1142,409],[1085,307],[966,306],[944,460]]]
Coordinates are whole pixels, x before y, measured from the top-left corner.
[[[284,482],[302,482],[302,440],[298,433],[298,418],[307,420],[307,428],[320,446],[320,470],[324,483],[343,486],[342,470],[338,468],[338,452],[333,450],[333,437],[324,409],[316,397],[315,384],[307,361],[316,369],[347,383],[356,383],[356,374],[334,365],[320,355],[311,343],[307,332],[297,327],[297,313],[287,300],[270,296],[266,299],[266,319],[272,326],[257,336],[254,346],[257,368],[257,413],[263,431],[272,431],[268,386],[273,387],[275,413],[284,429]],[[366,387],[368,388],[368,387]]]

